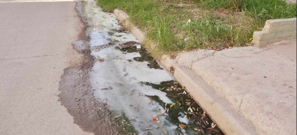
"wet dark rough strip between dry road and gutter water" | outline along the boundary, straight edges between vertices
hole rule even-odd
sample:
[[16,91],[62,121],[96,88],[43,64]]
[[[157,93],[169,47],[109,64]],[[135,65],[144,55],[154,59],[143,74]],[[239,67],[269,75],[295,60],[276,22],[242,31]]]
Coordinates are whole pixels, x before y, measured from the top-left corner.
[[[81,3],[77,2],[76,10],[81,15]],[[88,29],[86,21],[84,29],[79,35],[79,40],[72,43],[70,52],[79,52],[78,60],[72,62],[72,66],[64,69],[64,74],[59,82],[59,101],[66,107],[67,111],[73,116],[74,123],[86,132],[95,135],[115,135],[119,134],[116,124],[107,105],[95,99],[91,84],[89,82],[89,72],[94,64],[94,57],[90,55],[89,38],[85,33]],[[66,53],[67,54],[67,53]],[[75,54],[69,54],[70,57]],[[69,56],[67,56],[69,57]]]

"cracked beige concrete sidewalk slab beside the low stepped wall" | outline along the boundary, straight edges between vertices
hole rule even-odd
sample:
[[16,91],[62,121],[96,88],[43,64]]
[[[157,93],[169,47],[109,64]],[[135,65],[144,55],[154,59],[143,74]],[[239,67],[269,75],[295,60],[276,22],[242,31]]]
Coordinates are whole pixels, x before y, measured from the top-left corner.
[[[186,68],[203,79],[257,134],[296,135],[296,40],[287,43],[262,49],[184,52],[171,59],[171,66]],[[224,111],[214,111],[212,104],[201,106],[211,116]],[[215,121],[220,126],[222,120]]]

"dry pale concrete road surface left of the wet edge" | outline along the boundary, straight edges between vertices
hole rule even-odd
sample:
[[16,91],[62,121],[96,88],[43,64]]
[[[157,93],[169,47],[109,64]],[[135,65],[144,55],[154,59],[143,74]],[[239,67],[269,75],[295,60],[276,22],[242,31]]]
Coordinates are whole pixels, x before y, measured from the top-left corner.
[[82,23],[74,1],[0,0],[0,134],[85,135],[58,101]]

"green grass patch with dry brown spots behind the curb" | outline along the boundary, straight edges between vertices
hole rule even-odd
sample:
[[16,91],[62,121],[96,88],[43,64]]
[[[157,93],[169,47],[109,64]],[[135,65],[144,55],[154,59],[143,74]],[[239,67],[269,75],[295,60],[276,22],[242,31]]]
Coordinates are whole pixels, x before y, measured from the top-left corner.
[[282,0],[98,0],[103,10],[124,10],[164,54],[198,48],[245,46],[268,19],[296,17]]

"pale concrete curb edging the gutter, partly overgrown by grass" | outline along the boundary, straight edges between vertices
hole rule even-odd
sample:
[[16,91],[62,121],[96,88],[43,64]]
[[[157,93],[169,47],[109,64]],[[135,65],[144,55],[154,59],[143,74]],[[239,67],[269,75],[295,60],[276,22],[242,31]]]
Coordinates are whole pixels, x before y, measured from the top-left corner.
[[[116,9],[114,10],[114,14],[140,42],[144,40],[144,33],[129,22],[129,16],[125,12]],[[172,71],[174,69],[173,77],[176,81],[186,87],[187,92],[209,114],[211,119],[217,123],[226,135],[259,134],[248,120],[217,95],[213,88],[206,84],[203,79],[195,76],[193,71],[177,66],[174,59],[166,55],[163,55],[159,61],[166,70],[171,69]]]

